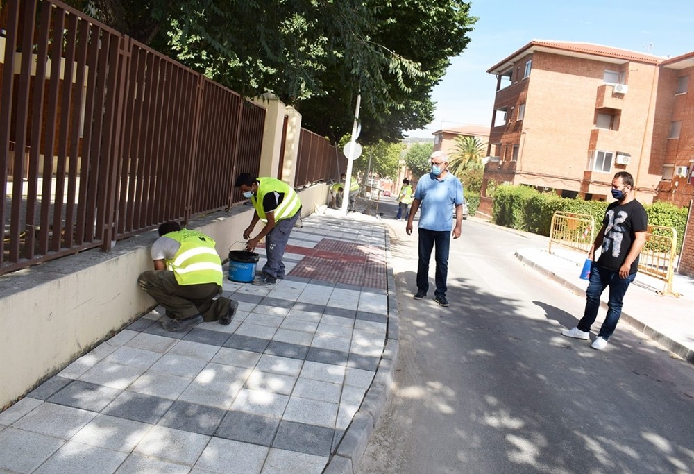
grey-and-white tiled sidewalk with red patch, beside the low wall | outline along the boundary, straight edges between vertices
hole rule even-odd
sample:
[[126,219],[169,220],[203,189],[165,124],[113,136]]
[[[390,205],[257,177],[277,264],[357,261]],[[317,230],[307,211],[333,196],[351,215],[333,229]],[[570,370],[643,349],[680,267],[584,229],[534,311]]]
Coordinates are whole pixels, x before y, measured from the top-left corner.
[[287,278],[225,280],[231,325],[155,310],[1,413],[0,472],[351,472],[397,353],[388,242],[375,217],[304,219]]

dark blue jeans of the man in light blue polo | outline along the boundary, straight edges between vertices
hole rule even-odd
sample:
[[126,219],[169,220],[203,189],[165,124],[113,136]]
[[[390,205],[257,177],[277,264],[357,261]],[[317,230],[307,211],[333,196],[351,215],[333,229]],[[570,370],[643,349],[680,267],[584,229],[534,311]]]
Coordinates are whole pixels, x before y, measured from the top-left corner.
[[450,230],[428,230],[418,228],[419,232],[419,262],[417,264],[417,289],[426,293],[429,291],[429,260],[434,251],[436,260],[436,291],[434,296],[446,296],[446,278],[448,278],[448,249],[450,248]]

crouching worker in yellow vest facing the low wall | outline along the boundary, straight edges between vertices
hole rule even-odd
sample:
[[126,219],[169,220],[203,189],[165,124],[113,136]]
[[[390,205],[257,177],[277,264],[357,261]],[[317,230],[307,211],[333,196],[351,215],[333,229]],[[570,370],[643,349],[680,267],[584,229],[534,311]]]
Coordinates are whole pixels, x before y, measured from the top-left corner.
[[164,222],[151,254],[154,270],[142,273],[137,282],[167,310],[164,330],[187,330],[202,321],[231,323],[239,303],[221,296],[215,299],[223,271],[211,237],[177,222]]

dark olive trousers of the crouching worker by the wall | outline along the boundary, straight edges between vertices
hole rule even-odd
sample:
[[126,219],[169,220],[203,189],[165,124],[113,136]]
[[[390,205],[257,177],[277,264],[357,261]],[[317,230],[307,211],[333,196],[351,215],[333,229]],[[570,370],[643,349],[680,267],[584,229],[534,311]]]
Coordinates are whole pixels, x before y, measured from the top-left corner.
[[174,272],[169,270],[145,271],[137,283],[167,310],[171,319],[188,319],[200,314],[203,321],[217,321],[231,304],[228,298],[213,299],[221,291],[217,283],[179,285]]

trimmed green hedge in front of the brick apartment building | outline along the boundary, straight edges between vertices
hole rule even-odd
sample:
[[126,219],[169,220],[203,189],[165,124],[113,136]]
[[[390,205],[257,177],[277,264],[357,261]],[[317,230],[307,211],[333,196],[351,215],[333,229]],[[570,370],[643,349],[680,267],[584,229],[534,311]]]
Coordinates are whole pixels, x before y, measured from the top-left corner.
[[[468,199],[468,203],[471,201],[467,194],[465,198]],[[479,196],[477,196],[477,205],[479,205]],[[648,214],[648,223],[654,226],[674,227],[677,230],[677,252],[679,253],[682,248],[688,208],[678,208],[670,203],[653,203],[645,205],[644,208]],[[589,214],[595,218],[595,226],[600,228],[605,210],[607,210],[607,203],[602,201],[560,198],[557,194],[540,193],[528,186],[501,185],[494,193],[492,216],[494,222],[500,226],[549,236],[552,214],[555,211]]]

